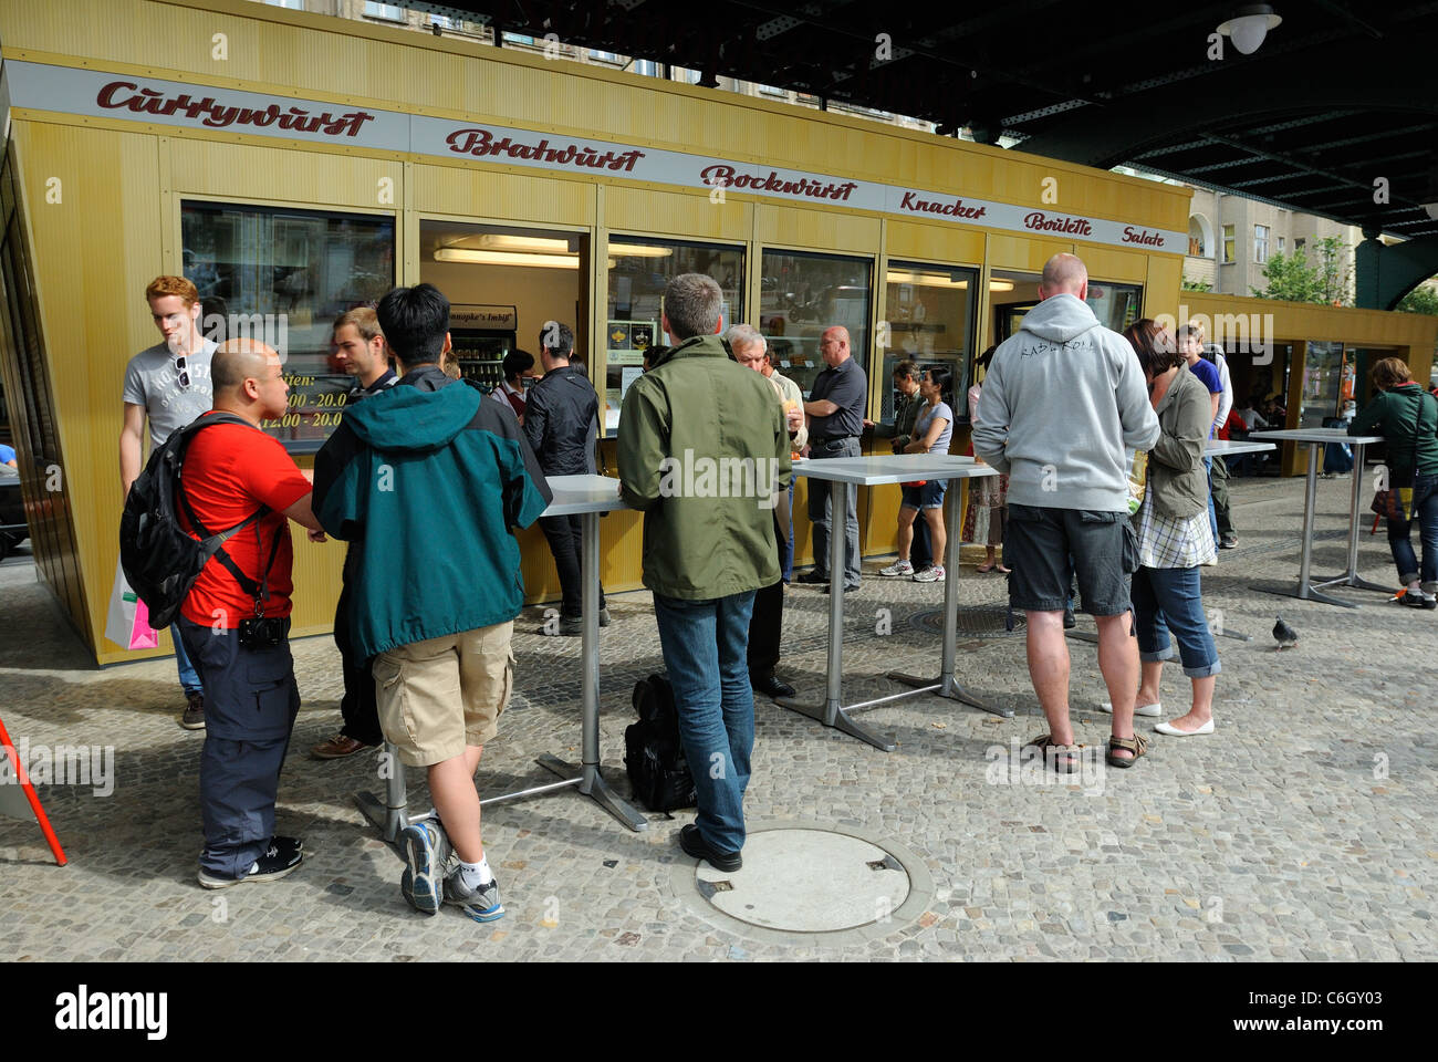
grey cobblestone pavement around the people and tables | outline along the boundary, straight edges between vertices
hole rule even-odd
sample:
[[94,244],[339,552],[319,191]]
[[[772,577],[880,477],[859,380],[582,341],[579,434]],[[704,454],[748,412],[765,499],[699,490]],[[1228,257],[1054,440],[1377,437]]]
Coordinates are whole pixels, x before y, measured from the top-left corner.
[[[932,696],[877,708],[861,718],[900,743],[884,754],[758,707],[751,825],[860,826],[916,852],[933,878],[920,917],[843,945],[719,930],[670,889],[672,875],[693,875],[676,846],[689,813],[650,816],[647,833],[630,833],[572,791],[486,812],[502,921],[413,912],[400,863],[349,799],[380,786],[377,757],[305,757],[339,722],[328,637],[295,643],[303,709],[280,780],[279,829],[303,836],[305,865],[270,885],[206,892],[194,879],[203,735],[175,725],[173,662],[96,671],[33,567],[12,560],[0,568],[0,715],[32,745],[114,745],[116,780],[108,797],[43,789],[70,858],[63,869],[33,822],[0,820],[0,938],[12,956],[52,961],[1434,958],[1438,613],[1353,590],[1340,593],[1360,612],[1251,591],[1255,578],[1296,581],[1303,481],[1235,479],[1231,491],[1240,548],[1205,570],[1205,603],[1252,642],[1219,639],[1211,737],[1152,735],[1135,768],[1089,784],[1005,777],[998,757],[1041,732],[1043,717],[1021,630],[972,630],[998,614],[1005,584],[969,564],[959,573],[969,607],[962,681],[1017,718]],[[1320,484],[1316,571],[1343,567],[1347,498],[1347,479]],[[1365,532],[1359,557],[1366,577],[1395,580],[1382,534]],[[873,576],[883,563],[867,563],[863,589],[847,596],[848,701],[894,692],[877,678],[884,669],[938,671],[939,636],[925,614],[942,603],[942,584]],[[823,688],[827,600],[798,586],[788,596],[781,673],[804,694]],[[880,609],[892,609],[889,636],[874,633]],[[649,594],[614,596],[610,610],[603,757],[627,793],[630,689],[661,665]],[[1300,633],[1283,653],[1268,635],[1280,612]],[[539,637],[538,626],[535,609],[518,625],[518,694],[480,766],[483,794],[552,780],[535,766],[541,753],[580,758],[580,643]],[[1099,745],[1107,717],[1094,707],[1107,698],[1096,652],[1083,642],[1070,650],[1078,740]],[[1163,701],[1182,711],[1188,682],[1176,666],[1163,684]],[[410,799],[429,806],[417,774]]]

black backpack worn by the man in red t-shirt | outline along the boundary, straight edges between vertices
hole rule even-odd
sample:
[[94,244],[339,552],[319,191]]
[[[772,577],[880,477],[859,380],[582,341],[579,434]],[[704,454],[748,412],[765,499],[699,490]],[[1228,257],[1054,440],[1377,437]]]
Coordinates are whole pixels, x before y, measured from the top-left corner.
[[[229,531],[211,534],[196,518],[190,499],[184,496],[184,486],[180,482],[184,452],[194,433],[210,425],[253,427],[247,420],[232,413],[207,413],[184,427],[177,427],[164,445],[150,455],[145,471],[129,488],[125,512],[119,518],[119,563],[125,570],[129,587],[150,609],[150,626],[155,630],[162,630],[174,623],[175,616],[180,614],[180,606],[190,594],[190,587],[194,586],[200,570],[210,561],[210,557],[217,557],[229,568],[244,593],[259,594],[262,590],[262,586],[240,571],[220,547],[230,535],[249,527],[269,509],[262,505]],[[175,515],[177,504],[184,505],[190,525],[207,535],[206,538],[196,540],[180,527],[180,519]],[[280,535],[275,535],[275,548],[270,551],[272,563],[275,550],[279,548],[279,540]],[[266,568],[267,573],[269,568]]]

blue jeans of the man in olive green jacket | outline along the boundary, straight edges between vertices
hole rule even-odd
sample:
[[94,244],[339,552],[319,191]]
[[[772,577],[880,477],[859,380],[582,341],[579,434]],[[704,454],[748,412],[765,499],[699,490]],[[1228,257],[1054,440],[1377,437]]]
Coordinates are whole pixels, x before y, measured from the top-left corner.
[[695,825],[718,852],[743,848],[743,791],[754,751],[749,619],[754,590],[706,602],[654,594],[679,737],[699,793]]

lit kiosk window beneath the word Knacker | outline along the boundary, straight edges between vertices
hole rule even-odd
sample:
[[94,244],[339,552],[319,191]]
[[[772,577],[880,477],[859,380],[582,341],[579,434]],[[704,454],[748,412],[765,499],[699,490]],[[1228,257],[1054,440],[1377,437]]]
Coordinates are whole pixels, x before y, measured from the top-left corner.
[[[874,381],[881,396],[879,419],[894,419],[894,366],[912,360],[919,368],[948,368],[949,386],[943,400],[953,416],[968,423],[966,400],[974,319],[978,288],[976,269],[890,262],[884,278],[884,319],[889,345],[883,351],[883,377]],[[883,337],[880,335],[880,342]]]

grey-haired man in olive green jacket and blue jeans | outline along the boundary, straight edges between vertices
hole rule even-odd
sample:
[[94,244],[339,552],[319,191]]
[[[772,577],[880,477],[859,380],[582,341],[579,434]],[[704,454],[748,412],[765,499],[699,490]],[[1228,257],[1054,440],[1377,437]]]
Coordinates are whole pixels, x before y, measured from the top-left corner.
[[624,396],[618,463],[624,499],[644,512],[644,586],[699,794],[679,845],[738,871],[754,748],[749,617],[755,591],[779,581],[774,505],[789,484],[789,433],[769,383],[729,358],[722,305],[709,276],[669,282],[674,347]]

